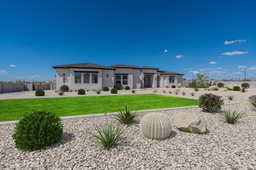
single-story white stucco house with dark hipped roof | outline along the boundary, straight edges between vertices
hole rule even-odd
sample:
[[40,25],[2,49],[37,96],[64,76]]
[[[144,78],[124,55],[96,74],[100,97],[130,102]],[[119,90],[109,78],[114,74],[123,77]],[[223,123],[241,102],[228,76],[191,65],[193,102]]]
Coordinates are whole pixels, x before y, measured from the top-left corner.
[[56,69],[56,89],[66,84],[70,90],[102,90],[121,84],[124,88],[156,88],[182,84],[184,74],[159,70],[155,67],[132,65],[103,66],[77,63],[53,66]]

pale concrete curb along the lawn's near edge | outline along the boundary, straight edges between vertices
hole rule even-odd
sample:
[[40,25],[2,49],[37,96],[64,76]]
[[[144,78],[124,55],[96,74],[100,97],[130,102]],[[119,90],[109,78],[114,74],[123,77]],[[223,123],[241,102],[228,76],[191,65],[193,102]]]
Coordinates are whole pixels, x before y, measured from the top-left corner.
[[[224,105],[236,105],[239,103],[227,103]],[[188,107],[174,107],[174,108],[163,108],[163,109],[148,109],[148,110],[141,110],[138,111],[137,113],[146,113],[146,112],[160,112],[160,111],[172,111],[172,110],[180,110],[180,109],[193,109],[193,108],[199,108],[198,105],[194,106],[188,106]],[[112,116],[113,114],[117,114],[117,112],[112,112],[112,113],[95,113],[95,114],[82,114],[82,115],[77,115],[77,116],[63,116],[60,117],[61,120],[68,120],[68,119],[74,119],[74,118],[88,118],[88,117],[100,117],[100,116]],[[11,124],[16,124],[19,121],[6,121],[6,122],[0,122],[0,126],[4,125],[11,125]]]

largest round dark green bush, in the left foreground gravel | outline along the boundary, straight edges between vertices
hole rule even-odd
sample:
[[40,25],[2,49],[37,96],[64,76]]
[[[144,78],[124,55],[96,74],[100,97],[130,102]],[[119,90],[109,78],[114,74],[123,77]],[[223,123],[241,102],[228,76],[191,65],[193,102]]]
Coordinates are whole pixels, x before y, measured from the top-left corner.
[[16,148],[22,151],[39,150],[60,141],[63,125],[55,113],[37,111],[26,116],[16,124],[13,139]]

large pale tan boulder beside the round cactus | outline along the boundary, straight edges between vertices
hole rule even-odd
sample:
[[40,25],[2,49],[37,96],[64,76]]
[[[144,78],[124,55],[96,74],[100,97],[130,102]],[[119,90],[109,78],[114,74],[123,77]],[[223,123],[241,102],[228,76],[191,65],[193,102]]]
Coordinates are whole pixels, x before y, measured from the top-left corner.
[[203,117],[197,116],[195,113],[179,113],[174,118],[174,124],[181,131],[189,131],[190,133],[205,133],[207,122]]

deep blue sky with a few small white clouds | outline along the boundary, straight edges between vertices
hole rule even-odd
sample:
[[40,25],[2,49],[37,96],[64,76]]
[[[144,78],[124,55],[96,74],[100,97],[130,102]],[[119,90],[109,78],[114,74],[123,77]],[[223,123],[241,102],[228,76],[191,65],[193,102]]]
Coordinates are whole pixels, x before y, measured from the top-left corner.
[[[256,78],[256,1],[0,1],[0,80],[53,65],[154,66]],[[225,43],[226,41],[226,43]],[[240,66],[240,67],[239,67]]]

